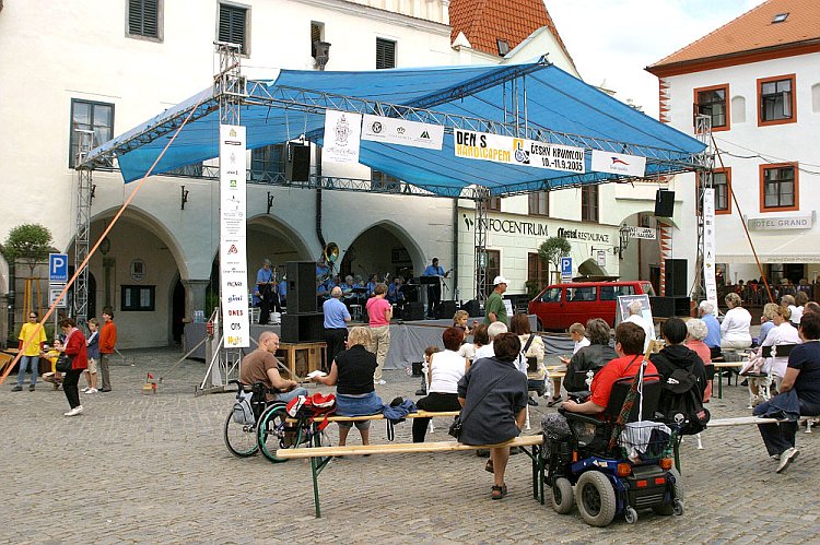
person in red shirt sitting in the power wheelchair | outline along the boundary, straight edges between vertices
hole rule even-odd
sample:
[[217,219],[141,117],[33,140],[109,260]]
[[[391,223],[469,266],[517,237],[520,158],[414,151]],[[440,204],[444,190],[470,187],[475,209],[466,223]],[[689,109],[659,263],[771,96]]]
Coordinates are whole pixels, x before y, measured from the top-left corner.
[[[641,370],[643,360],[643,347],[646,333],[643,328],[632,322],[622,322],[616,329],[616,353],[618,357],[609,362],[593,379],[590,394],[586,401],[578,403],[572,400],[565,401],[561,406],[570,413],[578,413],[602,417],[609,404],[609,395],[612,384],[618,379],[634,377]],[[644,375],[655,375],[657,369],[649,362],[644,369]],[[560,413],[546,414],[541,418],[543,429],[543,457],[550,458],[550,443],[552,440],[566,440],[572,437],[566,417]]]

